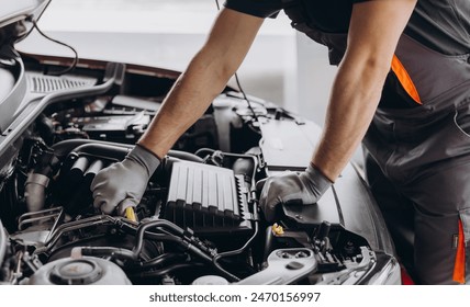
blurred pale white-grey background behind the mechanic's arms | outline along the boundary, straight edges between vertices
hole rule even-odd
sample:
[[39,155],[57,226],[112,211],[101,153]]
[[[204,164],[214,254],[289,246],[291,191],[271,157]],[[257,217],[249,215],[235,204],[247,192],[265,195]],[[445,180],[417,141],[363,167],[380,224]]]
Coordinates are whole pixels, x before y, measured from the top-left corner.
[[[53,0],[38,25],[82,58],[183,70],[216,14],[215,0]],[[72,56],[37,33],[18,47]],[[335,72],[326,48],[292,30],[281,13],[265,22],[238,77],[248,94],[323,125]]]

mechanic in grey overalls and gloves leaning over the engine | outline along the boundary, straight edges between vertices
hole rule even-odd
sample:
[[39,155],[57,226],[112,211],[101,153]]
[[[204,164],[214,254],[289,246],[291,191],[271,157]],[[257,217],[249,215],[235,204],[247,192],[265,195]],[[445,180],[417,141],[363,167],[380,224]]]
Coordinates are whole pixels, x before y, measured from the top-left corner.
[[280,10],[328,47],[338,71],[310,166],[264,186],[267,220],[281,203],[316,203],[363,140],[371,187],[389,191],[387,182],[415,212],[417,282],[470,281],[470,1],[226,0],[144,136],[93,180],[94,206],[122,214],[139,202],[160,158],[224,89],[264,20]]

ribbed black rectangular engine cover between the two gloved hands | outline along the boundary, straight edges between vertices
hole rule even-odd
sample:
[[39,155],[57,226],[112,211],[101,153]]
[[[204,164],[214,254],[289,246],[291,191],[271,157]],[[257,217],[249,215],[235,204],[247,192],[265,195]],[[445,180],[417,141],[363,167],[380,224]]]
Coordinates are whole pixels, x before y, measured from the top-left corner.
[[178,161],[161,218],[198,235],[251,232],[248,189],[231,169]]

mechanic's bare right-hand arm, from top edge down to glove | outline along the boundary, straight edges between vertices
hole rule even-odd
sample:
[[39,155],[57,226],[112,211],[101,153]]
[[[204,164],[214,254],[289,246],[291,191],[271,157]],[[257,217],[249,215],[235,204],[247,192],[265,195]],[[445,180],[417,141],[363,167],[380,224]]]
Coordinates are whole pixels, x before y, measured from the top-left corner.
[[334,181],[363,138],[377,110],[398,41],[416,0],[372,0],[354,5],[348,48],[329,99],[312,162]]

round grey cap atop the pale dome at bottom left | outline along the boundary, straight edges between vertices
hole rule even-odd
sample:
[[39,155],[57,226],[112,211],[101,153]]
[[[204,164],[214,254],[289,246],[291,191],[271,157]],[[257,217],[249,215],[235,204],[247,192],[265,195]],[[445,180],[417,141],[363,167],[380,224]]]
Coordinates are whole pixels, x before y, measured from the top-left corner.
[[70,259],[54,266],[51,282],[58,285],[89,285],[101,278],[103,270],[92,259]]

